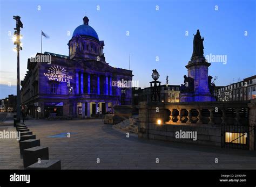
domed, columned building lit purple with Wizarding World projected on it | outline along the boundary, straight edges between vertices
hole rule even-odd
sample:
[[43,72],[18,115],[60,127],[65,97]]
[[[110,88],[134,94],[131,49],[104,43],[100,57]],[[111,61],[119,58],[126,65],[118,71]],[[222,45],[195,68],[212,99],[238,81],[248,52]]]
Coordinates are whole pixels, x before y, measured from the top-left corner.
[[104,41],[89,26],[78,26],[69,40],[69,56],[50,52],[28,59],[21,81],[22,105],[36,118],[49,116],[93,117],[130,105],[132,71],[105,61]]

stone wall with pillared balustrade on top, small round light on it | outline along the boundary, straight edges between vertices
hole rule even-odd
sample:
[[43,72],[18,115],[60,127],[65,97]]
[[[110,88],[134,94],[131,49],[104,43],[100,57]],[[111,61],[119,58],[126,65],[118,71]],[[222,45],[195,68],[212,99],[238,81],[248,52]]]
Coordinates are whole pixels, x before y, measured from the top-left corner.
[[[214,116],[214,109],[218,108],[222,111],[222,116]],[[233,108],[235,111],[234,117],[232,117],[232,124],[230,124],[231,117],[226,116],[226,111],[228,108]],[[164,140],[164,141],[176,141],[185,143],[194,143],[199,145],[209,145],[221,147],[221,142],[224,142],[224,132],[222,132],[222,125],[248,125],[241,120],[240,109],[248,109],[248,117],[246,121],[249,121],[250,130],[254,128],[256,121],[256,99],[250,101],[238,101],[238,102],[201,102],[200,104],[196,102],[191,103],[147,103],[140,102],[138,105],[139,109],[139,124],[138,124],[138,136],[139,138],[147,138],[154,140]],[[173,114],[170,111],[172,109],[177,109],[180,113],[181,109],[186,109],[188,111],[186,122],[181,121],[183,117],[181,114],[178,116],[178,121],[174,122],[172,120]],[[190,112],[192,109],[197,109],[198,121],[193,123],[191,120]],[[201,110],[208,109],[210,116],[208,118],[207,124],[204,124],[204,120],[201,114]],[[158,112],[156,111],[158,110]],[[205,117],[204,117],[205,118]],[[248,119],[249,118],[249,119]],[[218,119],[218,120],[217,120]],[[160,120],[161,123],[158,124],[157,121]],[[217,123],[219,121],[219,123]],[[253,127],[252,127],[253,126]],[[197,133],[196,140],[190,138],[177,138],[176,132],[195,132]],[[249,130],[249,131],[250,131]],[[244,133],[244,132],[242,132]],[[221,136],[222,135],[222,136]],[[250,134],[250,149],[253,150],[254,147],[254,131]]]

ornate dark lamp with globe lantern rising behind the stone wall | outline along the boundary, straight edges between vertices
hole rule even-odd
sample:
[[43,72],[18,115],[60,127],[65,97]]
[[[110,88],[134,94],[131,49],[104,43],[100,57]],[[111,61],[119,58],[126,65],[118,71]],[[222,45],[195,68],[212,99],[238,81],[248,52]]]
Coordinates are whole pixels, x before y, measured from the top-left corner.
[[160,102],[160,99],[161,99],[161,93],[160,93],[160,83],[158,80],[159,78],[159,73],[157,71],[157,69],[153,69],[152,70],[153,73],[152,73],[152,78],[154,81],[150,82],[150,98],[151,98],[151,101],[153,102]]

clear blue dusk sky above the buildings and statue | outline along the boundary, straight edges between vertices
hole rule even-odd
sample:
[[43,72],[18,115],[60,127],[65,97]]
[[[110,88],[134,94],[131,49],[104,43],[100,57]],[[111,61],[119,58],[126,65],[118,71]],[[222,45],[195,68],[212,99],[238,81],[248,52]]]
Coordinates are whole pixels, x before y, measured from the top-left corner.
[[[253,0],[0,2],[0,84],[11,82],[12,88],[16,83],[16,53],[12,51],[15,46],[8,33],[14,32],[14,15],[21,16],[24,25],[21,80],[27,59],[41,51],[41,30],[50,36],[43,39],[43,52],[68,55],[68,41],[73,30],[83,24],[85,12],[90,19],[89,25],[105,42],[104,53],[111,66],[128,69],[131,54],[133,80],[139,81],[140,87],[149,86],[155,68],[163,83],[166,75],[169,84],[183,83],[183,76],[187,74],[185,65],[193,51],[193,33],[196,34],[198,28],[205,38],[205,55],[227,57],[226,64],[212,62],[209,68],[210,75],[219,77],[216,85],[230,84],[233,78],[237,82],[238,78],[242,80],[256,74]],[[216,5],[218,10],[215,10]],[[130,32],[129,37],[126,31]],[[156,56],[159,56],[158,62]],[[12,88],[10,91],[14,90]],[[4,91],[0,97],[8,93]]]

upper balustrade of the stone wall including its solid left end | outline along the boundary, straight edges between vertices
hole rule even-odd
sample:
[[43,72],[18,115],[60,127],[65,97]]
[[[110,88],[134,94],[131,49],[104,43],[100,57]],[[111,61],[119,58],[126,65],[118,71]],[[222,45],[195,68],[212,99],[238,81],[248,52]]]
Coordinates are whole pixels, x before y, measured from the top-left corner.
[[165,124],[247,124],[250,100],[232,102],[139,103],[139,119]]

